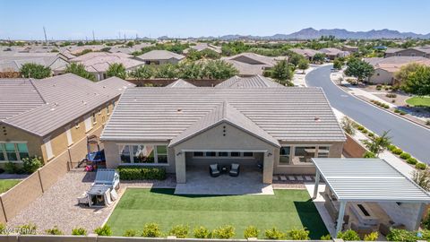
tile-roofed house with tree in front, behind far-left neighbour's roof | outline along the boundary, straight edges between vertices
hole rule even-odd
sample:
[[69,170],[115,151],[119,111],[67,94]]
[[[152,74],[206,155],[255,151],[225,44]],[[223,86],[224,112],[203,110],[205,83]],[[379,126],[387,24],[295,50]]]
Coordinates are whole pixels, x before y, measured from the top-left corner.
[[85,69],[94,74],[97,81],[107,78],[107,69],[114,63],[124,65],[127,72],[144,65],[142,61],[134,59],[133,56],[107,52],[90,52],[74,57],[71,62],[85,65]]

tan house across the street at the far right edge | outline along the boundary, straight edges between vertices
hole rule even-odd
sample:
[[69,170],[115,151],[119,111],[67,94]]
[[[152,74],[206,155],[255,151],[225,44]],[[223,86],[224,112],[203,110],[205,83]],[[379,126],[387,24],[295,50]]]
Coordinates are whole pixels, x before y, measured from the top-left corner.
[[394,79],[394,73],[398,72],[403,65],[418,63],[430,66],[429,59],[419,56],[374,57],[365,58],[364,60],[374,66],[374,74],[368,78],[367,82],[375,84],[397,84]]

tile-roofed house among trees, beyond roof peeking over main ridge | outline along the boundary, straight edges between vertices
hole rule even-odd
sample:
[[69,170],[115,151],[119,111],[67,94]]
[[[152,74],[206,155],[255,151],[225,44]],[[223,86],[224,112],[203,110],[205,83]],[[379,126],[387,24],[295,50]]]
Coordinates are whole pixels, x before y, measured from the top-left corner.
[[262,74],[264,70],[271,69],[280,58],[287,57],[270,57],[254,53],[242,53],[236,56],[221,57],[231,65],[235,66],[241,76],[250,76]]

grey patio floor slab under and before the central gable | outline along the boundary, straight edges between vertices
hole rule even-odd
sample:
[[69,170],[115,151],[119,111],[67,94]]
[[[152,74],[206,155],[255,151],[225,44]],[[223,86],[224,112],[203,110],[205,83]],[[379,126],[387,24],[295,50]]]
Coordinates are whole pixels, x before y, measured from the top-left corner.
[[211,177],[206,169],[187,168],[186,183],[177,184],[175,194],[274,194],[262,183],[262,172],[241,170],[238,177]]

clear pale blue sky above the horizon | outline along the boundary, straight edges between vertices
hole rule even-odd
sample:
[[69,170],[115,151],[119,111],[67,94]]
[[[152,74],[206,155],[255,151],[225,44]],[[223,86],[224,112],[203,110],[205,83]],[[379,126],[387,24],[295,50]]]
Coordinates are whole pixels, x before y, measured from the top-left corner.
[[0,0],[0,39],[273,35],[307,27],[430,32],[429,0]]

